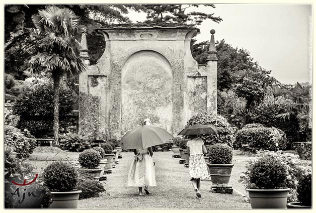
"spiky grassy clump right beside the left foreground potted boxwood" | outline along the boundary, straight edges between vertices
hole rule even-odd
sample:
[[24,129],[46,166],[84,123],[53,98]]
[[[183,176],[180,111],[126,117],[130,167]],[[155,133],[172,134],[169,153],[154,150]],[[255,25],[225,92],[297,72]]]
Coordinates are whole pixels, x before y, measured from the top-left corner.
[[98,197],[100,193],[105,192],[104,185],[92,178],[92,176],[84,170],[79,170],[77,189],[82,192],[79,195],[79,199],[86,199],[90,197]]

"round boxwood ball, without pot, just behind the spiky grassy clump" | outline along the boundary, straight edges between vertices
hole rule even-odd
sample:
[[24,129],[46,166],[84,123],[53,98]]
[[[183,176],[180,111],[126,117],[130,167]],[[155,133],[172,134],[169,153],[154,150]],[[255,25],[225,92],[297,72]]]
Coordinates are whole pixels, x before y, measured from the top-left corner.
[[79,154],[78,161],[83,168],[94,169],[99,166],[101,155],[94,149],[87,149]]

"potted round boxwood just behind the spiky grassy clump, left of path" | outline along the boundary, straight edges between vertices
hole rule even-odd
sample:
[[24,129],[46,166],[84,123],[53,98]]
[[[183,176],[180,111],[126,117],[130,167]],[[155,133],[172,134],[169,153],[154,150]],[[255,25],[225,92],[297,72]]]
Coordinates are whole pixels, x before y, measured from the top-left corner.
[[101,155],[94,149],[86,149],[79,154],[78,161],[83,169],[90,173],[93,178],[100,179],[102,169],[99,167]]

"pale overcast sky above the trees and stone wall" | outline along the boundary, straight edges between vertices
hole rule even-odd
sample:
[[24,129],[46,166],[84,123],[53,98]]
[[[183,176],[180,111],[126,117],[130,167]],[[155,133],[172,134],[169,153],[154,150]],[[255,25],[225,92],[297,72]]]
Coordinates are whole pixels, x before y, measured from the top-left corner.
[[[198,28],[198,41],[225,39],[232,47],[244,48],[254,61],[282,83],[309,82],[312,62],[309,39],[312,36],[311,5],[299,4],[215,4],[200,6],[195,11],[214,13],[223,19],[219,24],[204,21]],[[188,10],[188,12],[190,12]],[[144,21],[146,15],[131,12],[133,22]]]

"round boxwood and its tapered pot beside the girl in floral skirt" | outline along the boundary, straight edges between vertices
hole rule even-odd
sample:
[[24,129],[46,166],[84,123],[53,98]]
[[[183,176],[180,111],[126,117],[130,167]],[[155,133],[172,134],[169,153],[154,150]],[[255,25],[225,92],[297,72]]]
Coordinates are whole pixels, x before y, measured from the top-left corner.
[[213,185],[228,185],[233,167],[232,149],[225,144],[214,144],[208,147],[209,168]]

